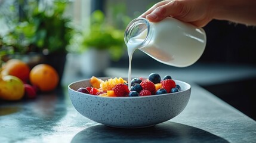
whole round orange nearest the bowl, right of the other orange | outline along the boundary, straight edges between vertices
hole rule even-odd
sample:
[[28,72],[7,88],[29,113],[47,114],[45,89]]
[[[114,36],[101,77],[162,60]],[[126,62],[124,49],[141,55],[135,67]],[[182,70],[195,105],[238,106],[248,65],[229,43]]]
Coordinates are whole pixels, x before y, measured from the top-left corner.
[[32,68],[29,74],[32,85],[38,86],[40,91],[53,91],[58,85],[57,71],[48,64],[38,64]]

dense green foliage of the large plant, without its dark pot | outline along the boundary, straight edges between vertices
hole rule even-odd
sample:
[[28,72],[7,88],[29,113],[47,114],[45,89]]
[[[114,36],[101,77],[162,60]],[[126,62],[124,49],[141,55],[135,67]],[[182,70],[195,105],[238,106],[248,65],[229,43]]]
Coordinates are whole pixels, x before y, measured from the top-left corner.
[[[18,4],[23,3],[19,1]],[[72,37],[70,19],[64,17],[67,4],[67,1],[53,1],[39,8],[38,1],[28,1],[21,8],[22,16],[9,20],[11,26],[3,35],[4,44],[20,54],[67,52],[66,46]]]

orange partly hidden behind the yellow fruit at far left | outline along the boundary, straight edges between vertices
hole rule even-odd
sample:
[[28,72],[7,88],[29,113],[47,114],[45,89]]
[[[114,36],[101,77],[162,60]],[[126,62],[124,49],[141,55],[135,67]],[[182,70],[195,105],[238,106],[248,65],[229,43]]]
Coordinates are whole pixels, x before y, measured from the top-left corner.
[[11,59],[2,67],[1,74],[3,76],[11,75],[26,81],[29,79],[29,66],[21,60]]

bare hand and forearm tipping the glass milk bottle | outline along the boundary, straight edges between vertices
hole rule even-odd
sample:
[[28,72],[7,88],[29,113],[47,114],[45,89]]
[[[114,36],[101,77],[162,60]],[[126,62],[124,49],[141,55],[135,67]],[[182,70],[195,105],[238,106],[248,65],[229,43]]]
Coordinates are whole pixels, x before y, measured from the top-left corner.
[[152,22],[168,16],[199,27],[213,19],[256,26],[256,0],[166,0],[141,15]]

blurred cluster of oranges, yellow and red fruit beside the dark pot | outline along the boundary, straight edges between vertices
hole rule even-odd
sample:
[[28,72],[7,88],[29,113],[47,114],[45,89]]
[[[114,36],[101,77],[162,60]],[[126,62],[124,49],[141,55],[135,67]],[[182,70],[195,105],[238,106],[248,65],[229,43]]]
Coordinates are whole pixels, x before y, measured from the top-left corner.
[[18,101],[36,98],[38,92],[53,91],[59,82],[57,71],[48,64],[32,69],[18,59],[0,65],[0,100]]

